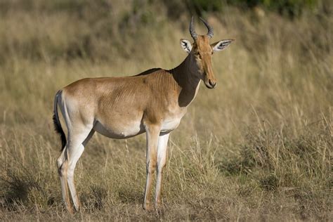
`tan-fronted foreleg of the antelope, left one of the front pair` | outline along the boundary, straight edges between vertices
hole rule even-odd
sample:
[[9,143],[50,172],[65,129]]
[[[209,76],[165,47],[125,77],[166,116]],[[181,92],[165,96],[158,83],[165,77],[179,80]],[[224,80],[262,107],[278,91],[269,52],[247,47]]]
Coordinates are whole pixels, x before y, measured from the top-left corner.
[[145,126],[147,135],[146,171],[147,180],[145,182],[145,200],[143,209],[151,210],[150,199],[152,190],[152,176],[155,173],[157,163],[157,143],[159,138],[160,126],[150,124]]

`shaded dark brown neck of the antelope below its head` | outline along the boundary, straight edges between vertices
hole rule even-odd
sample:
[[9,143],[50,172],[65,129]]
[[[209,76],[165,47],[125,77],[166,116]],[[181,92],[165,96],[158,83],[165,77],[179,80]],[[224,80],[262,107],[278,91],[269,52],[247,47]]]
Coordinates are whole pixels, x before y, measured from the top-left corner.
[[180,107],[190,105],[197,95],[197,89],[199,89],[201,80],[195,58],[191,54],[188,54],[183,63],[169,72],[171,72],[180,89],[178,105]]

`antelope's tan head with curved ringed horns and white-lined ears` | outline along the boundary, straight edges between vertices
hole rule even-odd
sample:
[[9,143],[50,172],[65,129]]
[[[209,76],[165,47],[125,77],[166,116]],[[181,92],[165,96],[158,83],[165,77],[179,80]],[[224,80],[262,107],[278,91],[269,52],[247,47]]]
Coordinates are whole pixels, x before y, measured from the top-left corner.
[[[181,47],[194,61],[196,65],[196,74],[200,75],[200,79],[204,81],[204,84],[209,89],[213,89],[216,86],[216,77],[214,75],[213,69],[211,67],[211,56],[214,51],[222,51],[224,48],[228,47],[234,39],[224,39],[221,41],[216,41],[214,44],[209,44],[211,37],[214,35],[213,28],[202,18],[200,18],[204,25],[207,27],[207,34],[198,35],[195,32],[193,17],[190,22],[190,34],[194,42],[191,44],[187,39],[181,39]],[[193,63],[193,62],[192,62]]]

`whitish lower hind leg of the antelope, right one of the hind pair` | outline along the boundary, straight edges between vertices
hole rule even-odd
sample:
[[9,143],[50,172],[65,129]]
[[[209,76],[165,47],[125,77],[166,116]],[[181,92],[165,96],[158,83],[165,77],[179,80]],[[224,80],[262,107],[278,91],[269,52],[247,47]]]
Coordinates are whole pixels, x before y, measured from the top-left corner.
[[[72,196],[73,204],[75,210],[79,211],[80,208],[80,202],[79,197],[77,195],[77,190],[75,189],[74,185],[74,170],[75,166],[77,165],[77,161],[79,160],[79,157],[81,157],[82,152],[84,152],[84,145],[89,142],[91,136],[93,136],[93,133],[95,131],[92,129],[89,133],[89,135],[84,139],[84,141],[78,145],[78,146],[72,146],[69,150],[69,164],[68,164],[68,171],[67,171],[67,184],[68,188],[70,188],[70,194]],[[83,137],[82,137],[83,138]],[[80,140],[79,140],[80,141]]]

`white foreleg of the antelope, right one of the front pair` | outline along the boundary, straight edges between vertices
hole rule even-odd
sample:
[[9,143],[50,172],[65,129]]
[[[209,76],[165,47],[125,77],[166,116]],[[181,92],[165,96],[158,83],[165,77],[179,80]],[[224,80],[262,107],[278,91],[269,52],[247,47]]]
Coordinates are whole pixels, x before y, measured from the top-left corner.
[[155,192],[155,207],[159,207],[162,197],[162,172],[166,164],[166,151],[168,148],[169,133],[160,135],[157,145],[157,179]]

